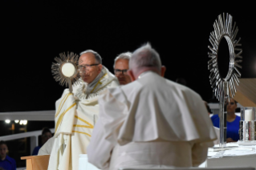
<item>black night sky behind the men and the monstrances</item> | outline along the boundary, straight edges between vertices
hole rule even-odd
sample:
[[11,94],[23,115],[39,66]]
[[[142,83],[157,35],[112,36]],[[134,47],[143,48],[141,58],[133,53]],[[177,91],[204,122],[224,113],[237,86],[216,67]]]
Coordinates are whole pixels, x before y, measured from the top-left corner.
[[[0,111],[54,110],[65,87],[51,75],[51,63],[63,51],[92,49],[112,71],[113,59],[145,42],[161,55],[165,77],[187,80],[209,101],[207,52],[218,14],[237,22],[242,43],[242,78],[256,77],[256,14],[253,4],[223,1],[2,1]],[[215,4],[215,5],[214,5]],[[221,5],[221,7],[220,7]],[[245,6],[245,7],[243,7]],[[226,46],[227,47],[227,46]],[[228,50],[227,50],[228,51]],[[221,66],[220,66],[221,67]]]

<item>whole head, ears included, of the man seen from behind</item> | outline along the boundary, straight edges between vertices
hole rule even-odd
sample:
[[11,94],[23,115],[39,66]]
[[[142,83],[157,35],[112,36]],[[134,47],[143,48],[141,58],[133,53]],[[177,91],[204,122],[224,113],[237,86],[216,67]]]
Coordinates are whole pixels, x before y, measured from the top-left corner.
[[149,43],[133,52],[129,61],[129,69],[128,74],[132,81],[145,71],[154,71],[159,75],[165,75],[165,67],[161,66],[160,56]]

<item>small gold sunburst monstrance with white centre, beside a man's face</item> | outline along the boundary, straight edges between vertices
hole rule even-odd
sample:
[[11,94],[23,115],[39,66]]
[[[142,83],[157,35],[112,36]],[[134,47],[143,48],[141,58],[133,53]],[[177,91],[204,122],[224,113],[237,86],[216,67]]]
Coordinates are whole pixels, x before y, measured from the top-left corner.
[[69,91],[72,92],[72,84],[79,83],[79,55],[75,55],[73,52],[70,54],[67,52],[60,53],[59,57],[55,57],[57,63],[52,63],[51,72],[54,75],[54,79],[59,82],[60,85],[68,85]]

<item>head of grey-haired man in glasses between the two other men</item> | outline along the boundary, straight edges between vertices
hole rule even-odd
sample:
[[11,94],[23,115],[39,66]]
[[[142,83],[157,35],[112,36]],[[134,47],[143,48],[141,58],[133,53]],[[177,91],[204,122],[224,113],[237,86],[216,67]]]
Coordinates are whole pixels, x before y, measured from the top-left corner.
[[132,53],[126,52],[118,55],[115,59],[114,72],[120,85],[125,85],[131,82],[131,78],[127,74],[131,56]]

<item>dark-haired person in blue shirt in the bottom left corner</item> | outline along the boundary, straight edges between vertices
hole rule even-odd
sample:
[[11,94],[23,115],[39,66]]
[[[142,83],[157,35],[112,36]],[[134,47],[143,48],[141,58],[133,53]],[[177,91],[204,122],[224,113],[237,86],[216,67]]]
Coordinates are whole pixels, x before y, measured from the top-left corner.
[[0,169],[16,170],[16,162],[7,156],[8,148],[4,141],[0,141]]

